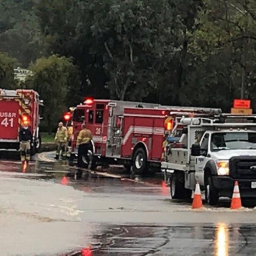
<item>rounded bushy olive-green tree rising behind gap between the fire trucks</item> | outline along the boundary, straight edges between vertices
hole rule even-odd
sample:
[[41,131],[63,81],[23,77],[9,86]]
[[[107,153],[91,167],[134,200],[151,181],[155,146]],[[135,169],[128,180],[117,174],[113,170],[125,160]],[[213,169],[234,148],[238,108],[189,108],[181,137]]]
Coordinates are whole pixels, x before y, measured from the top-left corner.
[[66,102],[70,101],[71,97],[75,97],[73,102],[77,100],[78,92],[74,90],[77,85],[71,84],[71,78],[76,69],[72,58],[51,55],[49,58],[36,60],[30,66],[30,70],[33,75],[27,79],[27,87],[37,91],[40,98],[44,100],[42,117],[45,126],[51,132],[66,111]]

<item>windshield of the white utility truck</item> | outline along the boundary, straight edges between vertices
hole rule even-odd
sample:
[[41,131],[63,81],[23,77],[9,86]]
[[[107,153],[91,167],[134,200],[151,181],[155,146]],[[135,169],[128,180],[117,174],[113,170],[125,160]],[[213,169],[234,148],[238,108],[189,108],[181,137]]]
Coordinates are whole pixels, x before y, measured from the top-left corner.
[[256,133],[213,133],[211,135],[210,150],[256,150]]

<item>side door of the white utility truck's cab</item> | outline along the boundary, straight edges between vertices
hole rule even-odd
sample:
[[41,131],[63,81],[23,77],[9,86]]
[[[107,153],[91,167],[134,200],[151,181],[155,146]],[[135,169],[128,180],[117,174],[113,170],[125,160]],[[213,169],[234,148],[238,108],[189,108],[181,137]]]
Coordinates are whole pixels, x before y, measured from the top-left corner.
[[200,143],[201,154],[195,158],[196,179],[200,185],[204,184],[204,166],[208,161],[209,134],[206,133]]

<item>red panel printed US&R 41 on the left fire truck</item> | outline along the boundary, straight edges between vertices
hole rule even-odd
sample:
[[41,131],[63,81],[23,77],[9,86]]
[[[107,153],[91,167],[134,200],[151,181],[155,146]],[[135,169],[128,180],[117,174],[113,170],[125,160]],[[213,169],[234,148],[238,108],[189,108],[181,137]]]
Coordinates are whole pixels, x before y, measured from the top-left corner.
[[14,99],[0,100],[0,140],[18,139],[19,104]]

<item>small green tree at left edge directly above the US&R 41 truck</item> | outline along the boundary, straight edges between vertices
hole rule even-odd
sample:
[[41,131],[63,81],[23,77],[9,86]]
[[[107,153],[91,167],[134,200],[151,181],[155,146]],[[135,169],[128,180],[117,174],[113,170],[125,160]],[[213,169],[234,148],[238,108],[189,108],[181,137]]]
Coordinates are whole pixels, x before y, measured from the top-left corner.
[[15,89],[16,82],[13,69],[17,65],[16,63],[16,59],[0,52],[0,87],[2,89]]

